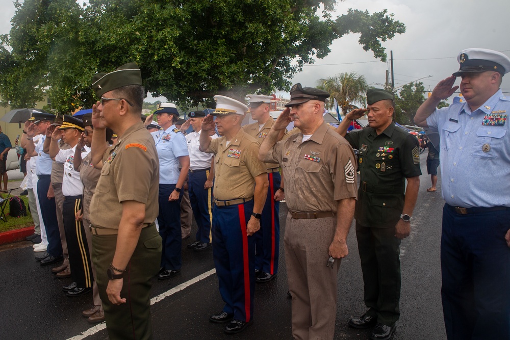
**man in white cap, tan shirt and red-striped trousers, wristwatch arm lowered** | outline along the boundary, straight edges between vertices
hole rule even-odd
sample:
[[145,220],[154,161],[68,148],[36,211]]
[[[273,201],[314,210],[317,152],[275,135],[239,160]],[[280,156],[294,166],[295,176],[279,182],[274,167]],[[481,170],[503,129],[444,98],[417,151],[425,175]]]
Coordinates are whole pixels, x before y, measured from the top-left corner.
[[[241,128],[248,107],[232,98],[214,96],[216,122],[202,121],[200,151],[215,153],[213,258],[225,306],[211,315],[215,323],[228,323],[227,334],[242,332],[253,323],[255,293],[255,240],[267,195],[264,163],[257,159],[259,144]],[[223,137],[212,139],[214,124]]]

